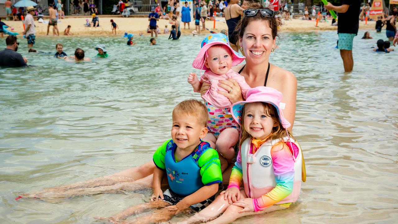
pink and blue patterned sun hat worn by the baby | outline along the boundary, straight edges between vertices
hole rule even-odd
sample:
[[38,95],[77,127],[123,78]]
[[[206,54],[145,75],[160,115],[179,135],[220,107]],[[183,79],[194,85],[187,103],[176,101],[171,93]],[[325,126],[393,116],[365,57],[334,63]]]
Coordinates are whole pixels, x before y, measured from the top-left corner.
[[242,54],[234,51],[232,47],[229,45],[228,42],[228,37],[223,34],[223,33],[211,33],[203,39],[201,43],[201,49],[199,51],[199,54],[195,57],[195,60],[193,60],[192,67],[195,69],[199,70],[208,70],[207,67],[205,67],[205,60],[207,58],[207,49],[209,47],[216,45],[216,44],[223,44],[228,46],[228,48],[231,50],[232,53],[232,66],[239,65],[242,63],[242,61],[245,60],[245,56]]

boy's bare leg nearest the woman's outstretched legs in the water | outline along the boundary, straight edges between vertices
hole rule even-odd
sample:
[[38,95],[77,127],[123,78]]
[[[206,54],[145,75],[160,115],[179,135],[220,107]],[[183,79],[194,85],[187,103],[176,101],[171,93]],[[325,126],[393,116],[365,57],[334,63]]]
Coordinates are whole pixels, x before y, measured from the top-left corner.
[[123,210],[122,212],[119,212],[111,217],[95,217],[96,219],[104,219],[104,220],[109,220],[109,221],[119,221],[123,218],[126,218],[128,216],[131,216],[133,214],[140,213],[144,210],[151,209],[151,208],[164,208],[166,206],[170,206],[169,202],[165,202],[164,200],[157,200],[157,201],[152,201],[149,203],[145,204],[138,204],[135,206],[131,206],[130,208],[127,208]]

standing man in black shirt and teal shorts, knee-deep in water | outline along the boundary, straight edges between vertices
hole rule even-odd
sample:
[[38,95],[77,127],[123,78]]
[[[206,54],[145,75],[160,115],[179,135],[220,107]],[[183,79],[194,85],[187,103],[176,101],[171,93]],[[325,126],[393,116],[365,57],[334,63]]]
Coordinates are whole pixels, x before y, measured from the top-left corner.
[[342,0],[341,6],[334,6],[330,2],[325,5],[326,10],[334,10],[339,13],[337,25],[339,43],[337,48],[340,50],[345,72],[352,71],[354,67],[352,43],[354,37],[358,34],[360,7],[361,0]]

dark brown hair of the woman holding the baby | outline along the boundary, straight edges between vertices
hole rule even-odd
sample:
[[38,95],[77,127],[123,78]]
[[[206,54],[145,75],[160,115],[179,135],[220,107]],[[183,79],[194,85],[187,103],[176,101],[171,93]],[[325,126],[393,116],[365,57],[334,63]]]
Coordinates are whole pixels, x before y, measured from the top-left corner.
[[[250,4],[248,9],[266,9],[265,7],[261,6],[259,3]],[[269,9],[269,8],[268,8]],[[255,16],[243,16],[242,19],[238,22],[234,32],[238,33],[240,38],[243,38],[243,34],[245,32],[246,27],[253,21],[264,21],[269,24],[269,27],[272,29],[272,39],[278,36],[278,26],[276,22],[275,15],[272,17],[266,17],[258,12]]]

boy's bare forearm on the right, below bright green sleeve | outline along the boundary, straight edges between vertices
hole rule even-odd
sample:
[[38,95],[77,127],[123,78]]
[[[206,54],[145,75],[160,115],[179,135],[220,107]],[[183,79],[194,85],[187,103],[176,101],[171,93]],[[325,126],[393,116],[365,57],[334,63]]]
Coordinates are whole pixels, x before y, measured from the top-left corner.
[[176,204],[176,207],[178,208],[178,210],[188,208],[192,204],[196,204],[210,198],[211,196],[215,195],[218,190],[219,183],[214,183],[209,186],[203,186],[199,190],[195,191],[195,193],[186,196],[184,199],[178,202]]

